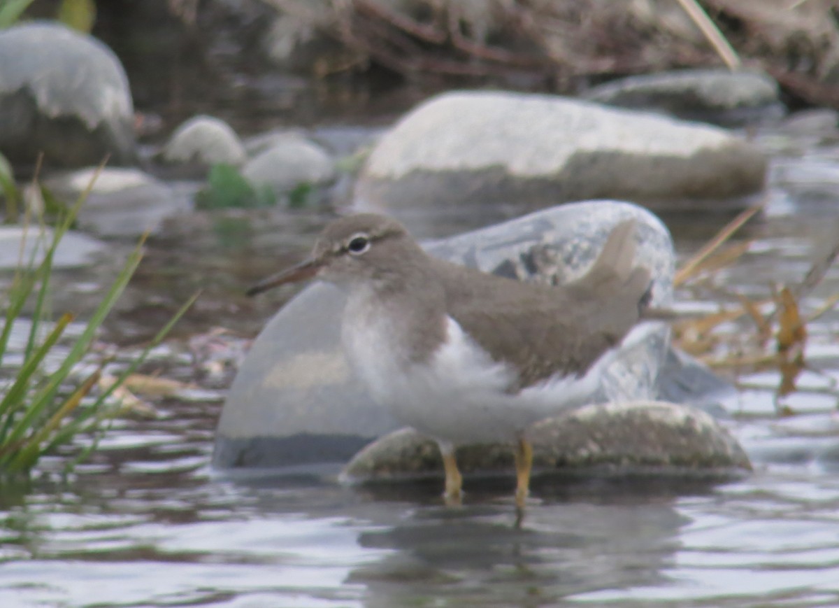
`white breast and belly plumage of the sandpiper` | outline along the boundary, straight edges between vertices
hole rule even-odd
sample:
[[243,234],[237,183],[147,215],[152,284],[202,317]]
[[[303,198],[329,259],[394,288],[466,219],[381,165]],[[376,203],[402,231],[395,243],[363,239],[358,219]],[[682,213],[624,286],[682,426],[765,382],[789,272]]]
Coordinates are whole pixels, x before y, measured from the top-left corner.
[[404,350],[388,315],[349,318],[344,348],[373,399],[438,441],[512,441],[534,422],[584,405],[599,385],[600,362],[581,378],[555,377],[510,394],[513,370],[492,361],[451,317],[446,342],[423,364],[393,356]]

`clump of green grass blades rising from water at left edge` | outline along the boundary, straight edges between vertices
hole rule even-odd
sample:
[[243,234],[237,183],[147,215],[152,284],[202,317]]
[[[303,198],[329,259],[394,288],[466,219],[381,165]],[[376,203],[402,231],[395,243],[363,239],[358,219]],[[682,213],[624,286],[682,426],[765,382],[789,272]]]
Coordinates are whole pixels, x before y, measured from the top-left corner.
[[[91,433],[95,438],[100,436],[106,422],[117,412],[117,408],[107,406],[113,391],[143,363],[150,349],[169,333],[197,296],[193,296],[180,308],[138,358],[96,398],[91,394],[105,362],[99,364],[98,369],[81,382],[74,380],[73,372],[76,366],[90,352],[97,330],[128,285],[143,257],[143,238],[137,248],[128,255],[122,270],[87,320],[81,333],[69,346],[62,347],[66,350],[62,353],[63,358],[57,369],[46,369],[48,355],[55,354],[60,339],[73,320],[70,313],[61,315],[55,323],[50,323],[47,319],[55,251],[61,238],[74,222],[92,185],[91,181],[87,190],[52,229],[51,237],[48,236],[50,231],[43,226],[40,230],[34,228],[33,232],[38,234],[33,235],[33,238],[39,239],[39,247],[34,249],[29,260],[22,261],[5,294],[6,309],[3,315],[3,329],[0,331],[0,365],[8,354],[9,338],[14,324],[23,321],[24,307],[31,305],[32,312],[28,338],[23,348],[23,362],[19,365],[16,375],[6,381],[6,385],[0,380],[0,474],[28,473],[41,457],[55,453],[57,448],[71,443],[80,433]],[[36,254],[39,249],[43,259],[38,262]],[[96,441],[78,454],[76,459],[68,464],[68,468],[84,459],[95,447]]]

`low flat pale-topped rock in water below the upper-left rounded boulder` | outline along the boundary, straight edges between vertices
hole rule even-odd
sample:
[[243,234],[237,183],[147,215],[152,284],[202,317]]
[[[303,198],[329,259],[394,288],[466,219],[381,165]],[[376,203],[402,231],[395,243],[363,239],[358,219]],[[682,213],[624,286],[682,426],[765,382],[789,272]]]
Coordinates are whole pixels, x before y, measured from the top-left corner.
[[[55,196],[74,202],[95,174],[94,168],[60,172],[44,183]],[[164,219],[191,207],[186,192],[143,171],[106,167],[93,182],[78,223],[102,236],[138,236],[154,233]]]

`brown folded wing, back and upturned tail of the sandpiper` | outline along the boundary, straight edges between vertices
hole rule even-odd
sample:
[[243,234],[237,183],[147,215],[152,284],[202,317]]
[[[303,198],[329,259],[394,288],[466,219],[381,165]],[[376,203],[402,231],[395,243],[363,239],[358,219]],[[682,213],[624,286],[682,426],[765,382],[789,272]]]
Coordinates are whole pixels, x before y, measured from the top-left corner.
[[583,374],[638,322],[650,277],[634,266],[633,235],[633,221],[618,224],[591,269],[568,286],[523,284],[446,265],[447,308],[493,359],[520,370],[510,390],[557,370]]

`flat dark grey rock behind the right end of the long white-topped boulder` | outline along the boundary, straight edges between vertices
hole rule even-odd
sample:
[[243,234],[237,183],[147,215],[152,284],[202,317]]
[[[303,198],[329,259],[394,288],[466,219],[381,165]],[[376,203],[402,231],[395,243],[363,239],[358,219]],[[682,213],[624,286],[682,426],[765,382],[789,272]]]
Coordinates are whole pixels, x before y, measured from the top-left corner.
[[785,113],[778,83],[770,76],[722,68],[629,76],[595,86],[585,97],[611,106],[726,125],[760,123]]

